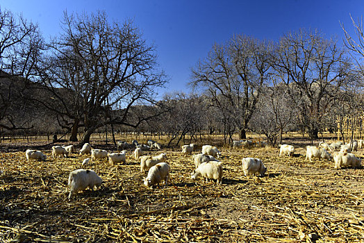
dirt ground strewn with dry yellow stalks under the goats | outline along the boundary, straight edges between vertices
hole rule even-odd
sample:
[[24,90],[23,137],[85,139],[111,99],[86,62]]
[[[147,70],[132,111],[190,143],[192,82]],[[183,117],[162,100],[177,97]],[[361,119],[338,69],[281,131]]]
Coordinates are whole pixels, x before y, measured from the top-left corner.
[[[103,186],[71,201],[69,171],[88,156],[53,159],[44,150],[47,161],[26,162],[25,147],[0,153],[0,242],[364,241],[364,170],[305,161],[304,143],[281,158],[276,148],[222,148],[221,185],[192,181],[192,158],[164,149],[169,184],[144,187],[146,174],[129,151],[124,165],[90,162],[85,168]],[[363,158],[363,151],[354,153]],[[265,177],[244,176],[245,157],[263,160]]]

